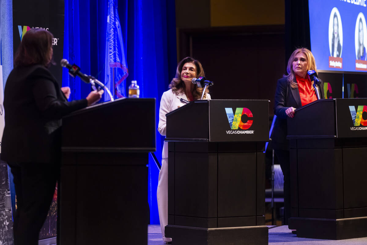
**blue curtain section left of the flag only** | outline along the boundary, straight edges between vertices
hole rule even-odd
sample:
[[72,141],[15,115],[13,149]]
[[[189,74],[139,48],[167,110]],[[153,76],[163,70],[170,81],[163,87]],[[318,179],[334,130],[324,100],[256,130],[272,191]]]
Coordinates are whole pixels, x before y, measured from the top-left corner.
[[[107,4],[103,0],[65,0],[63,58],[81,72],[104,80]],[[62,86],[71,89],[70,100],[86,98],[91,86],[63,69]]]

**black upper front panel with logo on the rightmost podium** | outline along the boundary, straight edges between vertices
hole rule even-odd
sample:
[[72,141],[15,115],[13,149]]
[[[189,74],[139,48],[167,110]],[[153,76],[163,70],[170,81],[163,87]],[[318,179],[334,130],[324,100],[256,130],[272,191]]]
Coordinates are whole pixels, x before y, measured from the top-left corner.
[[336,99],[338,138],[367,137],[367,98]]

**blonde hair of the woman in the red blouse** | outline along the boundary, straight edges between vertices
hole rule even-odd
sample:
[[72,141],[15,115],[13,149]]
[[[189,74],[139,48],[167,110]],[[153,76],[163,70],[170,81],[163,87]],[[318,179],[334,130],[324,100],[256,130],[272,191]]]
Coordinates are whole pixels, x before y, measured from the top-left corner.
[[[313,54],[311,53],[311,51],[308,50],[307,48],[297,48],[296,50],[293,51],[293,53],[291,54],[291,57],[288,60],[288,65],[287,65],[288,75],[283,75],[284,78],[287,78],[292,89],[295,89],[298,87],[297,82],[294,82],[295,73],[293,71],[293,60],[294,60],[294,57],[299,53],[303,53],[304,55],[306,55],[307,71],[314,70],[317,74],[315,57],[313,57]],[[313,85],[313,81],[311,81],[311,85]]]

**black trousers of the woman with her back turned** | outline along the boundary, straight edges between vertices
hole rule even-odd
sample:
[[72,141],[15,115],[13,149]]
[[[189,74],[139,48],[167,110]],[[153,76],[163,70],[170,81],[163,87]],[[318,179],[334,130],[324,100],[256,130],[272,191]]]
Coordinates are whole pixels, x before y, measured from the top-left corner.
[[14,245],[37,245],[39,233],[52,202],[59,165],[52,163],[8,163],[14,176],[17,210]]

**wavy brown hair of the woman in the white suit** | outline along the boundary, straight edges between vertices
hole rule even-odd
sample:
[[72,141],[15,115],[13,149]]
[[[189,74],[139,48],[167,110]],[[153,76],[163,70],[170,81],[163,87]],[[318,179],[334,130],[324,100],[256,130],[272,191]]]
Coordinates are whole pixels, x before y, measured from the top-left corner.
[[[181,80],[181,72],[183,65],[185,65],[186,63],[193,63],[196,66],[196,78],[199,78],[200,76],[205,76],[203,66],[198,60],[195,60],[191,57],[184,58],[177,64],[176,76],[172,79],[170,85],[168,86],[170,87],[170,89],[172,89],[172,91],[175,92],[175,94],[185,93],[185,83]],[[200,100],[202,93],[203,89],[197,87],[197,85],[195,84],[194,90],[192,91],[192,96],[194,100]],[[205,90],[204,98],[206,98],[207,93],[209,93],[208,88]]]

